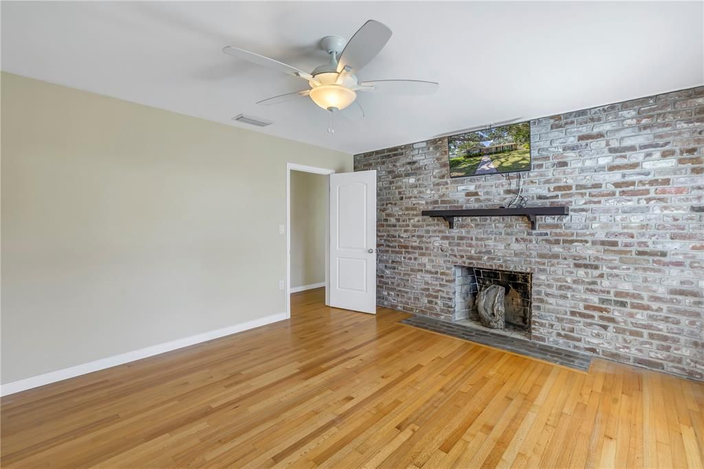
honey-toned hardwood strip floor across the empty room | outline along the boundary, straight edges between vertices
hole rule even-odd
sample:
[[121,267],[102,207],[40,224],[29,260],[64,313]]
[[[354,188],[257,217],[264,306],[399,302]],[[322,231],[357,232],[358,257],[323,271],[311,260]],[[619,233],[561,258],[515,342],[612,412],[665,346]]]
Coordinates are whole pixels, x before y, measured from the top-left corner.
[[702,468],[704,384],[296,294],[282,321],[2,399],[1,463]]

